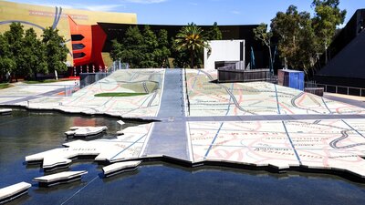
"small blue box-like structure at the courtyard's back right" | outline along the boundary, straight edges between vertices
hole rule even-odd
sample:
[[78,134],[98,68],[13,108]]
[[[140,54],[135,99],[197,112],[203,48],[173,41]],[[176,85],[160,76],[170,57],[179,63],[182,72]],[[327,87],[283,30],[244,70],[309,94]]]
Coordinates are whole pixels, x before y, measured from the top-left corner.
[[277,80],[280,86],[304,90],[304,72],[298,70],[278,70]]

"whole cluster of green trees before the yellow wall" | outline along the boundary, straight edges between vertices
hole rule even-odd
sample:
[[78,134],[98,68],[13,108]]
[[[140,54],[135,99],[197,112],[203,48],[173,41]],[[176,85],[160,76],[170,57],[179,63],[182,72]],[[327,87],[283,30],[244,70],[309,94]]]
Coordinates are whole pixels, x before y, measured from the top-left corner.
[[63,37],[51,27],[44,30],[43,39],[36,36],[33,28],[24,31],[20,23],[12,23],[10,29],[0,34],[0,78],[31,77],[36,73],[65,71],[68,48]]

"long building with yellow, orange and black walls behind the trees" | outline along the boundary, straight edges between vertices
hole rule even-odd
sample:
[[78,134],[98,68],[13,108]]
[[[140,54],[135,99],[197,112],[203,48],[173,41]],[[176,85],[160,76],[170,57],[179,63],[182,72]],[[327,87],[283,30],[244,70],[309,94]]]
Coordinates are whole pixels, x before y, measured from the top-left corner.
[[[122,38],[129,26],[137,25],[136,14],[95,12],[62,7],[26,5],[0,1],[0,32],[9,29],[12,22],[25,28],[33,27],[40,36],[42,30],[52,26],[67,40],[70,51],[69,67],[105,67],[110,64],[111,40]],[[145,25],[137,25],[142,29]],[[165,29],[169,39],[183,26],[149,25],[151,30]],[[268,67],[268,51],[256,41],[253,29],[258,25],[218,26],[224,40],[245,39],[245,49],[253,47],[256,67]],[[208,30],[212,26],[201,26]],[[251,59],[245,51],[246,62]],[[108,65],[110,66],[110,65]]]

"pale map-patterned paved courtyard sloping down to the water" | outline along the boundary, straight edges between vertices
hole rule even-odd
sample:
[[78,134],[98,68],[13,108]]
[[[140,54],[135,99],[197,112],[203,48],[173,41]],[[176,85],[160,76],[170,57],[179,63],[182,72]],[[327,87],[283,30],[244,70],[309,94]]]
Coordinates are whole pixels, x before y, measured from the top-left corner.
[[[0,99],[5,105],[159,120],[127,128],[116,139],[78,140],[27,157],[48,165],[88,154],[110,162],[166,156],[192,164],[333,169],[365,179],[365,108],[265,82],[216,84],[215,72],[120,70],[71,97],[36,93],[22,101],[5,89]],[[94,96],[103,92],[148,95]]]

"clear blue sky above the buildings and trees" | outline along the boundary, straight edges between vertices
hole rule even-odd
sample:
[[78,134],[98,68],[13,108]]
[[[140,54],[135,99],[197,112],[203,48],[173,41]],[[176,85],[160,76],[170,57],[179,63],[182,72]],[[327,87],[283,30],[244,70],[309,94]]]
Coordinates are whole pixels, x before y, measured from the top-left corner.
[[[313,14],[313,0],[8,0],[32,5],[61,6],[93,11],[136,13],[139,24],[150,25],[256,25],[270,24],[278,11],[289,5]],[[340,0],[346,9],[345,25],[365,0]]]

